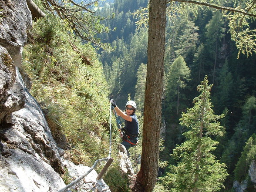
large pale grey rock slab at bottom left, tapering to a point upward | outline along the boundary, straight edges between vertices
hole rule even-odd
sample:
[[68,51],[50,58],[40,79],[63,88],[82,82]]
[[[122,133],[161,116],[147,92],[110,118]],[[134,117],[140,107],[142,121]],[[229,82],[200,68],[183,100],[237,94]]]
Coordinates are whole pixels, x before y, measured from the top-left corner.
[[[64,186],[61,157],[50,128],[17,71],[0,124],[0,191],[55,192]],[[15,111],[16,110],[16,111]],[[1,115],[3,116],[3,115]]]

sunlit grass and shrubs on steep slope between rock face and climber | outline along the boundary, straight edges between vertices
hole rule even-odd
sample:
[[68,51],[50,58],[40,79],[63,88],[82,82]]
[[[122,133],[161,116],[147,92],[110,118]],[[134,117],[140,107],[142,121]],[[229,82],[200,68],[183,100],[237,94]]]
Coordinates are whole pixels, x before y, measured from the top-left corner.
[[92,165],[108,152],[108,86],[94,48],[71,42],[66,29],[53,16],[37,20],[23,68],[58,145],[76,164]]

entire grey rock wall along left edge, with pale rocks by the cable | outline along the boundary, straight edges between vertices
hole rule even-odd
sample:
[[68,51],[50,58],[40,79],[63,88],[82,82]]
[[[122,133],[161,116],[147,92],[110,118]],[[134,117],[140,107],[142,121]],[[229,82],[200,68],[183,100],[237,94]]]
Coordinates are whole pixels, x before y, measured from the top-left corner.
[[[0,0],[0,192],[57,192],[66,186],[60,176],[61,149],[18,68],[31,26],[26,0]],[[81,172],[85,169],[79,166]],[[95,180],[96,172],[91,175],[84,180],[91,185],[85,189],[82,184],[79,192],[109,191],[102,180]]]

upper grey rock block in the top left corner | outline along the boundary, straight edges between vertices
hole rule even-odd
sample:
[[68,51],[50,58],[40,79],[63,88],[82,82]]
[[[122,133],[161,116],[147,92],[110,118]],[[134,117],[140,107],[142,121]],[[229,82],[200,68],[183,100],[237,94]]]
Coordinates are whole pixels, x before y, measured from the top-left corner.
[[5,47],[14,64],[21,66],[22,47],[27,43],[26,30],[32,27],[32,16],[26,0],[0,0],[0,46]]

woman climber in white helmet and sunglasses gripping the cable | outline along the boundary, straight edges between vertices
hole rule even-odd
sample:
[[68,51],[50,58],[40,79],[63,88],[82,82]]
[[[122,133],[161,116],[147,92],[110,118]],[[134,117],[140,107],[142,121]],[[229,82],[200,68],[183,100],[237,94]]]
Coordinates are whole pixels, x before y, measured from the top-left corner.
[[139,125],[138,118],[135,115],[136,103],[134,101],[128,101],[125,105],[125,112],[119,109],[113,99],[109,100],[112,106],[115,108],[116,114],[125,120],[125,127],[121,129],[123,132],[122,145],[127,150],[128,157],[130,153],[129,148],[135,146],[138,143]]

